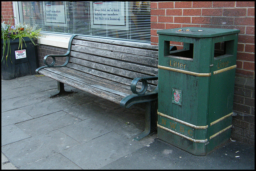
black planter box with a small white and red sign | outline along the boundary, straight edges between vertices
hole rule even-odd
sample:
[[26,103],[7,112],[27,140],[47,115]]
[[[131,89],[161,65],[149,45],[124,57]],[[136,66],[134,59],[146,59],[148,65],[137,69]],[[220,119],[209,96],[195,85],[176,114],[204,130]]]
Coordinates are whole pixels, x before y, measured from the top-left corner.
[[[36,46],[32,43],[30,38],[23,37],[24,41],[22,40],[22,48],[19,47],[19,39],[10,39],[10,48],[11,48],[11,55],[9,52],[9,57],[7,61],[2,61],[2,79],[4,80],[10,80],[15,79],[17,77],[23,77],[26,75],[34,75],[36,74],[35,71],[38,68],[38,58],[37,58],[37,49]],[[6,41],[7,43],[7,41]],[[7,54],[7,44],[5,48],[5,54],[4,57]],[[21,52],[22,50],[25,50]],[[16,51],[16,53],[15,53]],[[18,53],[21,52],[21,53]],[[22,54],[22,55],[21,55]],[[26,55],[26,56],[25,56]],[[2,40],[2,56],[3,56],[3,40]],[[1,57],[2,57],[1,56]],[[12,63],[10,61],[10,57],[12,60]],[[7,62],[7,65],[6,65]]]

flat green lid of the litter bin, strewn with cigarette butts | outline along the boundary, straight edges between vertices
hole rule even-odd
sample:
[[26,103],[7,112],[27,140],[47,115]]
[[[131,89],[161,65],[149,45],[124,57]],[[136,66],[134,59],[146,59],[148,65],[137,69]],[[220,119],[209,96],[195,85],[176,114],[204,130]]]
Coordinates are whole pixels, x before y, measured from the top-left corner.
[[240,33],[240,30],[239,29],[186,27],[186,28],[158,30],[157,33],[161,35],[176,35],[176,36],[185,36],[185,37],[217,37],[222,35]]

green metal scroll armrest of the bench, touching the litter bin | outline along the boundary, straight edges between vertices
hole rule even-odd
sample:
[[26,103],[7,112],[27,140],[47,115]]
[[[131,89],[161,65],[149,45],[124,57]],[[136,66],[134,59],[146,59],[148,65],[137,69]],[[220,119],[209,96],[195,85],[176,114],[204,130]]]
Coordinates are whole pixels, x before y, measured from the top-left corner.
[[[137,77],[137,78],[133,79],[132,83],[131,83],[132,93],[138,94],[138,95],[144,95],[148,89],[148,81],[149,80],[158,80],[158,75],[152,76],[152,77]],[[139,82],[142,83],[142,87],[139,91],[137,91],[136,86]]]

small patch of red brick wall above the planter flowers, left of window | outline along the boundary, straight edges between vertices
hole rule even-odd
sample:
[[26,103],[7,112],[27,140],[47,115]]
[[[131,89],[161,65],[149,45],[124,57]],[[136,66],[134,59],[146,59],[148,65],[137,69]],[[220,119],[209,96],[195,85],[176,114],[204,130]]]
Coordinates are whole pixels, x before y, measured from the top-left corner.
[[2,3],[2,19],[1,22],[5,21],[6,23],[8,22],[8,20],[10,20],[10,24],[14,25],[14,18],[13,17],[13,8],[12,8],[12,2],[8,1],[8,2],[1,2]]

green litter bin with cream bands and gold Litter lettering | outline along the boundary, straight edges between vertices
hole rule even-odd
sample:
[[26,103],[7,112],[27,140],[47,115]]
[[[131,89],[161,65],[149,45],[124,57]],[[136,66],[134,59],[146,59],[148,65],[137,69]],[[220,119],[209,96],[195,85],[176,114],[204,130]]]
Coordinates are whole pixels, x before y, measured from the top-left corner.
[[230,140],[239,32],[157,31],[160,140],[194,155],[206,155]]

